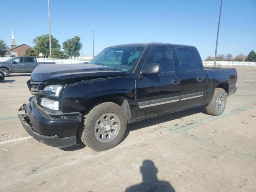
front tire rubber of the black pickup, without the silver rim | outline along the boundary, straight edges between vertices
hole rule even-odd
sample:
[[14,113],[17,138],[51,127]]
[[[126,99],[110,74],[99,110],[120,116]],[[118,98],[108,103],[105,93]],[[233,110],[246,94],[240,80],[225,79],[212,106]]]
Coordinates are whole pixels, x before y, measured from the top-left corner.
[[[113,113],[120,119],[119,131],[110,142],[102,143],[94,135],[94,126],[98,119],[106,113]],[[99,102],[94,104],[88,113],[84,116],[83,121],[78,129],[78,135],[82,142],[94,151],[103,151],[113,148],[122,140],[126,130],[127,119],[122,108],[113,102]],[[110,130],[111,131],[111,130]]]

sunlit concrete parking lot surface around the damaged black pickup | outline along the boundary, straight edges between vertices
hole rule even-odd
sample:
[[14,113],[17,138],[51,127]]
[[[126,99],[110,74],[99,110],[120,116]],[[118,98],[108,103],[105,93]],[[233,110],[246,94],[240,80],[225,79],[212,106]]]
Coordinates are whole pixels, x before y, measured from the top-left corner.
[[18,108],[29,74],[0,82],[0,191],[255,192],[256,67],[237,67],[236,94],[221,116],[204,106],[128,124],[122,142],[94,152],[31,138]]

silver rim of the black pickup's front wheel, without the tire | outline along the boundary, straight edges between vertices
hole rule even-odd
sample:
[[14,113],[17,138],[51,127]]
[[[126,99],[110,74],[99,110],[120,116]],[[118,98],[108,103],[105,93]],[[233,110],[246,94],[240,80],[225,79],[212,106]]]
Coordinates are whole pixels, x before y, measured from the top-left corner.
[[116,138],[120,127],[121,120],[117,114],[105,113],[96,121],[94,126],[94,136],[99,142],[108,143]]

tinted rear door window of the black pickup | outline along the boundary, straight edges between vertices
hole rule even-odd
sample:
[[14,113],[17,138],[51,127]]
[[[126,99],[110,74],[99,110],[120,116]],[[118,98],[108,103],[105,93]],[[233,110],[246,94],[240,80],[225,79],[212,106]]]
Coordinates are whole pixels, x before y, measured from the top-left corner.
[[198,70],[199,62],[196,57],[196,52],[189,48],[176,48],[179,66],[181,71]]

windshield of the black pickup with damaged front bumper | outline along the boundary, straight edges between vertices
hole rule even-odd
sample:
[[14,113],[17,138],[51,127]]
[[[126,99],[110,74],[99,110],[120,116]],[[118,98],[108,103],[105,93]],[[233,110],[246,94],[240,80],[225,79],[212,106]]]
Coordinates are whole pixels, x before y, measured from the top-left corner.
[[144,47],[112,47],[100,52],[89,64],[110,66],[130,72],[136,66]]

